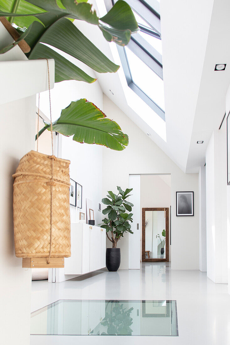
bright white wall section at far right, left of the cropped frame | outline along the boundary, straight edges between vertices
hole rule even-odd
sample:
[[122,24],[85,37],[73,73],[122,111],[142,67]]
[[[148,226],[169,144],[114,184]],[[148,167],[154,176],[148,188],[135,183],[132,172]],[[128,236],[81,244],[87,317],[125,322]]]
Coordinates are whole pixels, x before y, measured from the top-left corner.
[[226,127],[214,130],[206,150],[207,276],[228,282]]

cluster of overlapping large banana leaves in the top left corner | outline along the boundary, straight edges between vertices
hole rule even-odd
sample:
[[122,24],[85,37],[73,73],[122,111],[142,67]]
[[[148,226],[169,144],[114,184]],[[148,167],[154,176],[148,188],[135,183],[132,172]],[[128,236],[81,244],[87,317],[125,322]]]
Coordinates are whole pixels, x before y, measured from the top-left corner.
[[[67,18],[97,25],[107,41],[114,41],[121,46],[127,45],[131,33],[138,30],[131,8],[123,0],[118,0],[106,16],[100,19],[87,0],[0,0],[0,16],[9,17],[11,21],[13,18],[21,28],[28,28],[29,24],[37,20],[30,32],[25,34],[25,40],[31,47],[27,57],[54,58],[56,82],[70,79],[93,82],[95,78],[42,43],[68,53],[100,73],[116,72],[119,68]],[[0,53],[4,52],[3,48]]]

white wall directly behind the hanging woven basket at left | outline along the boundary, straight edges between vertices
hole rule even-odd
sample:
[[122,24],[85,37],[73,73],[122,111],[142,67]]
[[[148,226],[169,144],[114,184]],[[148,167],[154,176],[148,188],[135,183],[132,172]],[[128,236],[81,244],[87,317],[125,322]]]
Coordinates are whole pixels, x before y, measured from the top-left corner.
[[29,344],[31,269],[22,268],[13,243],[13,178],[19,160],[34,148],[36,97],[0,106],[1,342]]

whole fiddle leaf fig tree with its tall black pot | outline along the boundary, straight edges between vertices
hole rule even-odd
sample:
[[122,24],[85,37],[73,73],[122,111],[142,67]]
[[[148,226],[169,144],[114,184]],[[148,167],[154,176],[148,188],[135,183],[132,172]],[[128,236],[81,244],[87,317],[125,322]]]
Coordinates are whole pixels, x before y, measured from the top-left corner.
[[[102,224],[99,224],[102,228],[106,229],[106,236],[110,242],[112,242],[112,248],[106,249],[106,267],[109,271],[117,271],[121,263],[121,251],[117,248],[117,242],[121,237],[124,237],[124,233],[128,232],[133,234],[131,230],[131,224],[133,222],[133,214],[127,213],[132,211],[133,204],[126,201],[130,196],[130,192],[133,188],[123,191],[121,187],[117,186],[118,194],[114,194],[112,191],[108,191],[108,198],[103,198],[102,203],[107,207],[102,211],[107,218],[104,218]],[[111,238],[108,236],[111,232]]]

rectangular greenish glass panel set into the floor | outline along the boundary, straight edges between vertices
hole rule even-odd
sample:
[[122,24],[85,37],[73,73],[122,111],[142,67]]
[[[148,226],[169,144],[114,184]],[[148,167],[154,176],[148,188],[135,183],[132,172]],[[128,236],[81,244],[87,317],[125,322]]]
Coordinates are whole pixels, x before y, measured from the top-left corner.
[[178,336],[176,301],[62,299],[31,314],[31,334]]

